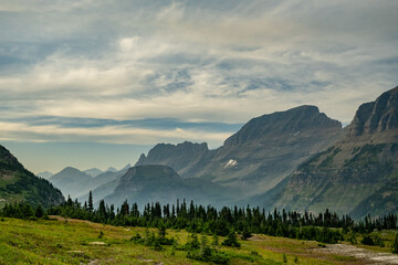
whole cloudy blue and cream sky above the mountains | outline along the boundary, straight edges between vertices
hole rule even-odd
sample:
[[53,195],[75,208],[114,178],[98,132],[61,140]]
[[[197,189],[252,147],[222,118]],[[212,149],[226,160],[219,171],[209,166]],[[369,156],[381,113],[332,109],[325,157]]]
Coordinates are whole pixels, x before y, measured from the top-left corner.
[[31,171],[217,148],[316,105],[348,124],[398,85],[396,0],[0,0],[0,145]]

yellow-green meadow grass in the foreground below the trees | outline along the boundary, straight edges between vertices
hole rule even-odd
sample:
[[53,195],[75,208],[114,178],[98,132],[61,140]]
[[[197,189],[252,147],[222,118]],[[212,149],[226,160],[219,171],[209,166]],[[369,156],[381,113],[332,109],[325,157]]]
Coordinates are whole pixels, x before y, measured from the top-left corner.
[[[103,236],[100,237],[101,232]],[[116,227],[78,220],[0,221],[0,264],[206,264],[188,259],[187,252],[170,246],[165,251],[135,244],[136,233],[143,227]],[[186,231],[167,231],[167,236],[182,245],[189,240]],[[390,241],[392,232],[380,237]],[[222,237],[219,239],[222,242]],[[95,245],[93,242],[103,242]],[[208,237],[211,242],[211,236]],[[254,235],[240,241],[240,248],[217,246],[230,257],[230,264],[362,264],[353,257],[325,254],[316,242],[297,241],[266,235]],[[389,244],[389,243],[388,243]],[[368,247],[378,250],[377,247]],[[388,250],[388,247],[385,247]]]

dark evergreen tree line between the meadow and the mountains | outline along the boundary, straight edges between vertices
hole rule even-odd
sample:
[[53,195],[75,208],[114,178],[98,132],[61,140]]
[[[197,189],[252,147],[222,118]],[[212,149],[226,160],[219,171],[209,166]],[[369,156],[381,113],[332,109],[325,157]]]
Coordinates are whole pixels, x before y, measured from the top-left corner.
[[[337,243],[344,239],[355,242],[356,233],[370,233],[374,230],[397,229],[397,215],[388,214],[364,221],[354,222],[348,215],[338,216],[326,209],[324,213],[276,211],[265,212],[258,208],[216,208],[197,205],[191,201],[177,200],[176,204],[161,205],[159,202],[148,203],[140,212],[137,203],[132,205],[125,201],[121,208],[107,205],[104,200],[94,209],[92,192],[83,204],[70,197],[63,204],[44,211],[39,205],[32,209],[27,203],[8,204],[1,210],[2,216],[42,218],[46,214],[88,220],[92,222],[142,227],[160,227],[187,230],[191,233],[216,234],[227,236],[231,231],[241,234],[243,240],[252,233],[283,236],[298,240],[315,240],[322,243]],[[354,237],[354,239],[353,239]]]

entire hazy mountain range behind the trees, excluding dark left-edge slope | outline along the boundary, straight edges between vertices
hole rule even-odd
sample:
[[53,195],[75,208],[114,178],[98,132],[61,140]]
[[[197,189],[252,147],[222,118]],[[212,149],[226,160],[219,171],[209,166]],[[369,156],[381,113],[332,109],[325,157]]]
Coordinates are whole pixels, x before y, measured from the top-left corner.
[[66,168],[50,180],[64,193],[86,199],[93,190],[96,201],[115,204],[186,198],[362,218],[398,211],[397,162],[398,87],[363,104],[345,128],[304,105],[249,120],[214,150],[158,144],[133,168],[94,178]]

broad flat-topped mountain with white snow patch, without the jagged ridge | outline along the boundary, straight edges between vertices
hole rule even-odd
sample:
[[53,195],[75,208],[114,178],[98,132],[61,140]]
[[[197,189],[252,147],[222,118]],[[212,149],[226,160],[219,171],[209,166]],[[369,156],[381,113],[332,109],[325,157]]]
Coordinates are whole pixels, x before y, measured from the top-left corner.
[[263,115],[228,138],[200,174],[219,183],[262,192],[336,141],[341,134],[341,123],[315,106]]

